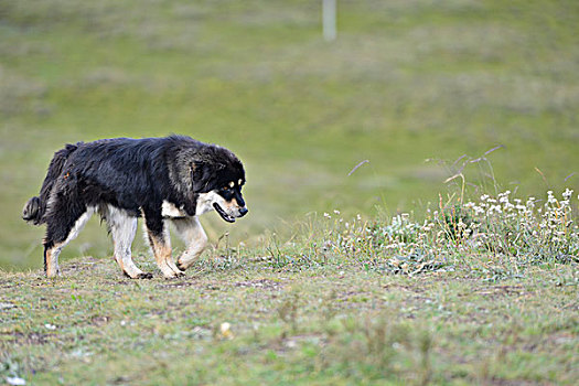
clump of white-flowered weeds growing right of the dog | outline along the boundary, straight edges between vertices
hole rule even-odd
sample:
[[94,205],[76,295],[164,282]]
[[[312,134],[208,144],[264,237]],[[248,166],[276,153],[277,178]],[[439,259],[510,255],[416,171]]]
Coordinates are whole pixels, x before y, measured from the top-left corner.
[[567,189],[557,199],[548,191],[543,203],[512,197],[510,191],[483,194],[427,211],[422,219],[409,213],[372,222],[328,215],[322,243],[343,259],[407,275],[451,269],[461,257],[473,255],[516,265],[579,262],[572,193]]

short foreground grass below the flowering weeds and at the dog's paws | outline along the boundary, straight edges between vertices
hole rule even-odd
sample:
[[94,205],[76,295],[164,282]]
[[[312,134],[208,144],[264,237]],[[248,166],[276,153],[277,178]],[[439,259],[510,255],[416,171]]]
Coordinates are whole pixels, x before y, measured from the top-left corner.
[[[490,282],[468,265],[408,278],[344,261],[203,261],[171,281],[129,280],[111,259],[90,257],[65,264],[57,280],[0,274],[0,376],[34,385],[571,385],[579,375],[569,265]],[[223,323],[230,328],[222,332]]]

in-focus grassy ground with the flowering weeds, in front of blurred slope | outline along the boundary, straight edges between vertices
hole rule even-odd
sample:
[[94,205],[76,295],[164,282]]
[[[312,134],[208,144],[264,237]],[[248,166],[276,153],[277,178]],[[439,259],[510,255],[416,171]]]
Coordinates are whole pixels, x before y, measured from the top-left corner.
[[[579,232],[567,191],[392,221],[337,211],[187,276],[0,271],[0,376],[31,384],[572,385]],[[175,250],[175,256],[179,253]]]

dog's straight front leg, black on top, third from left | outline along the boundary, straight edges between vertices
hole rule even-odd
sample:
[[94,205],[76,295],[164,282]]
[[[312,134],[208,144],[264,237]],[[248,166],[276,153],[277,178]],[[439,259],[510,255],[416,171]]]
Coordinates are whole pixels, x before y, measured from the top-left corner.
[[171,256],[171,237],[169,235],[169,224],[162,218],[144,216],[144,227],[149,237],[151,249],[153,250],[157,265],[164,277],[170,279],[185,275],[173,262]]

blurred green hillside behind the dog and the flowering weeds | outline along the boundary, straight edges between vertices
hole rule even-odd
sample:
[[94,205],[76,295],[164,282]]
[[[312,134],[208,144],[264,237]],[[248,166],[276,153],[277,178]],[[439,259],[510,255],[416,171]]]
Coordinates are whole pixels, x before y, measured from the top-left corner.
[[[250,213],[204,216],[213,243],[436,206],[497,146],[468,182],[577,194],[578,1],[339,0],[336,30],[321,0],[0,1],[0,268],[42,267],[22,205],[54,151],[99,138],[233,150]],[[111,250],[95,216],[63,256]]]

